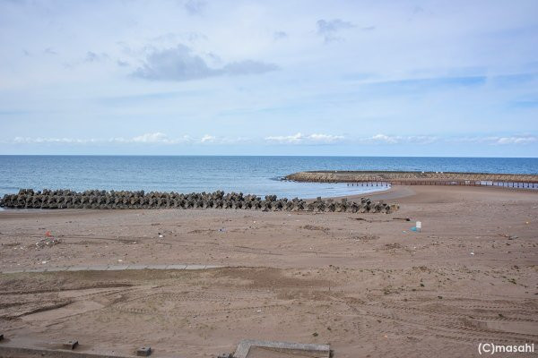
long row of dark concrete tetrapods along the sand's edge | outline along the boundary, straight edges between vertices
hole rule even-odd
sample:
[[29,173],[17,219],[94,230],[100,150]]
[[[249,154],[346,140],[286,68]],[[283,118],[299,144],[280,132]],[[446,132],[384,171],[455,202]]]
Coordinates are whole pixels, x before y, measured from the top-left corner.
[[360,200],[302,200],[277,199],[266,195],[239,192],[201,192],[182,194],[177,192],[127,192],[48,190],[34,192],[22,189],[17,194],[6,194],[0,207],[9,209],[250,209],[263,211],[317,211],[351,213],[391,213],[397,204]]

